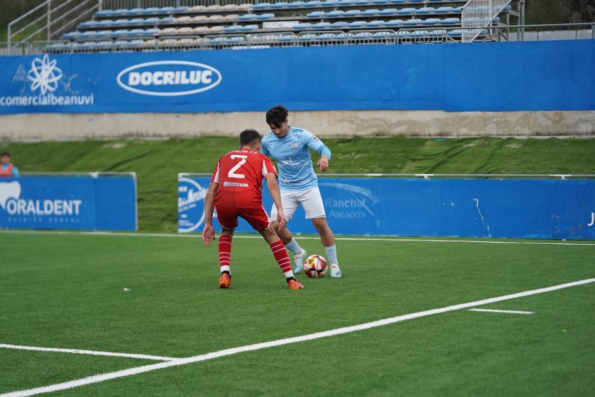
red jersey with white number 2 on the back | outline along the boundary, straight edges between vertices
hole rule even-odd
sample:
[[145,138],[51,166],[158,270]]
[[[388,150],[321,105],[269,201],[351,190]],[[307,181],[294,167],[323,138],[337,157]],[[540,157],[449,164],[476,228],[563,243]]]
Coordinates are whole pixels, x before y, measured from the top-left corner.
[[273,162],[259,152],[241,149],[224,155],[211,177],[219,184],[215,207],[261,208],[262,178],[268,173],[277,176]]

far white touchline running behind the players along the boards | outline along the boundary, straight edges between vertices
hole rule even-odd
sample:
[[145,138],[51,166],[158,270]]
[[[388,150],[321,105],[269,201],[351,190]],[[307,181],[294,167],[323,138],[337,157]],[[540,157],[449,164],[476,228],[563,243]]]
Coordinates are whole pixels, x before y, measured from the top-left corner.
[[[125,237],[180,237],[190,239],[201,239],[202,236],[195,235],[174,235],[167,233],[121,233],[121,232],[61,232],[55,230],[0,230],[0,233],[17,235],[82,235],[82,236],[125,236]],[[234,236],[234,239],[262,239],[261,236]],[[320,240],[320,237],[297,236],[298,240]],[[440,239],[400,239],[380,237],[335,237],[339,241],[393,241],[393,242],[432,242],[432,243],[480,243],[480,244],[524,244],[524,245],[585,245],[595,246],[595,243],[551,243],[536,241],[487,241],[487,240],[440,240]]]

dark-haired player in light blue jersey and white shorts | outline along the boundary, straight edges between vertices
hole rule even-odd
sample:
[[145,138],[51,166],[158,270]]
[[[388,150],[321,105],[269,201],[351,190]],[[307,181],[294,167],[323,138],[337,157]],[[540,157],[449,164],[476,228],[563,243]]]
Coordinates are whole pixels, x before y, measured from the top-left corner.
[[[287,109],[281,105],[267,111],[267,124],[271,127],[271,132],[262,138],[261,153],[267,157],[273,156],[277,160],[281,204],[287,220],[292,218],[297,206],[302,204],[306,218],[312,220],[314,228],[320,235],[327,254],[331,277],[341,277],[334,235],[328,227],[322,197],[318,190],[318,177],[314,173],[308,149],[321,155],[317,165],[322,172],[328,169],[331,151],[311,132],[290,126],[287,120],[288,114]],[[286,248],[293,252],[295,262],[293,272],[299,273],[307,257],[306,251],[297,244],[287,228],[278,231],[277,207],[274,205],[271,219],[274,220],[271,223],[273,230],[277,232]]]

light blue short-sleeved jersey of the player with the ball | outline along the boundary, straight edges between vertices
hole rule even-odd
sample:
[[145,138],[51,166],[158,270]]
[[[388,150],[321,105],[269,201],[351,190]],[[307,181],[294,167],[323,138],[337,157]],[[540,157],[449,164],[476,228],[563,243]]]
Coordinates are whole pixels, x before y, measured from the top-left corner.
[[318,186],[308,148],[329,160],[331,158],[327,146],[307,130],[289,126],[289,133],[282,138],[272,132],[262,138],[261,153],[277,160],[281,190],[306,190]]

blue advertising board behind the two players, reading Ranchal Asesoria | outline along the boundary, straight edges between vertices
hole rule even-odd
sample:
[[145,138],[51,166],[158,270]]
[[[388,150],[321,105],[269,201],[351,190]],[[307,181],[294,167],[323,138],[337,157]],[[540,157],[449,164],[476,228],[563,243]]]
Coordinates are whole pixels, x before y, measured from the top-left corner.
[[[209,179],[179,181],[179,232],[202,232]],[[321,178],[339,235],[595,239],[595,180]],[[264,193],[265,208],[273,201]],[[299,207],[287,227],[315,233]],[[241,220],[238,232],[253,232]]]

